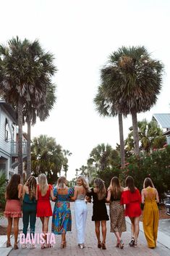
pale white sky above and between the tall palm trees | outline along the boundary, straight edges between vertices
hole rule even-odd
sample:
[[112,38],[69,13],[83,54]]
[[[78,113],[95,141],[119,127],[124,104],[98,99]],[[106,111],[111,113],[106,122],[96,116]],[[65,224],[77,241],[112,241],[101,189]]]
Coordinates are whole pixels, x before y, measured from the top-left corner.
[[[119,143],[117,117],[100,117],[93,104],[101,67],[111,52],[121,46],[145,46],[151,57],[161,60],[161,94],[156,105],[137,118],[151,120],[154,113],[170,111],[169,13],[169,0],[1,0],[0,44],[13,36],[38,39],[54,54],[56,104],[50,117],[32,128],[32,138],[52,136],[72,152],[68,179],[86,165],[95,146]],[[124,138],[131,125],[128,116]]]

